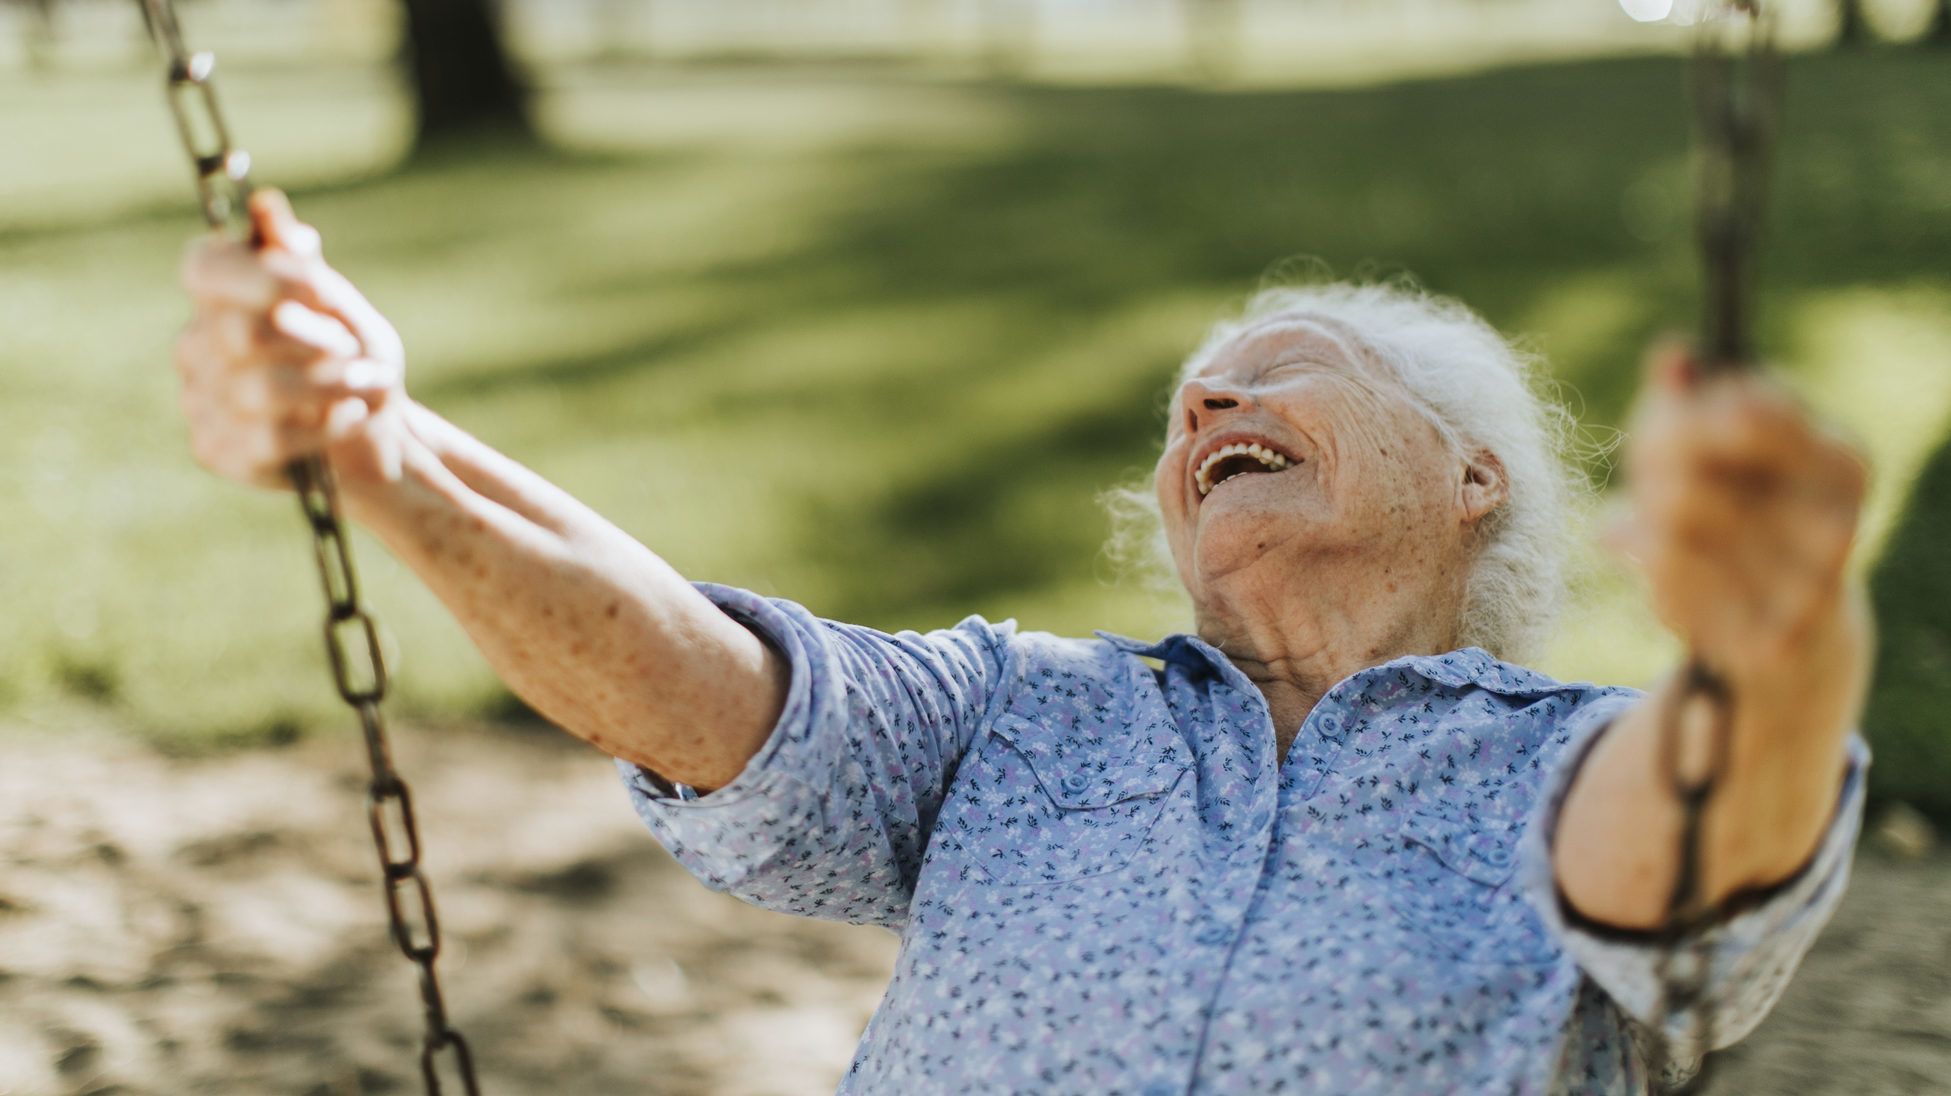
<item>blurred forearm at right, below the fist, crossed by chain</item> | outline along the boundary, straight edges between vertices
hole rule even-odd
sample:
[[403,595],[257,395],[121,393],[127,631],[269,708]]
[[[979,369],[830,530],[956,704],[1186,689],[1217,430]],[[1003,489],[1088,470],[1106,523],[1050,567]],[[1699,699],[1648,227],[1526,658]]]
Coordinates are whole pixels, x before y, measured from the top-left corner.
[[[1705,815],[1709,905],[1779,883],[1826,833],[1869,661],[1867,620],[1840,605],[1811,646],[1734,688],[1732,755]],[[1580,915],[1664,926],[1682,809],[1660,753],[1674,683],[1621,716],[1586,755],[1553,833],[1553,870]]]

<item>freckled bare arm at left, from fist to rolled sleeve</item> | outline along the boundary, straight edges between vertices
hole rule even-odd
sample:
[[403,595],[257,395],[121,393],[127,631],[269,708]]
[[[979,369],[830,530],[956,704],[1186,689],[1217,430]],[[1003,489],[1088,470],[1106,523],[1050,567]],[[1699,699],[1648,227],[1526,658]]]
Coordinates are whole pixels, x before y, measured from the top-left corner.
[[778,720],[786,667],[620,528],[404,388],[392,326],[318,234],[261,191],[259,248],[201,240],[178,345],[197,458],[283,486],[324,452],[347,513],[460,620],[496,673],[570,733],[697,788],[730,784]]

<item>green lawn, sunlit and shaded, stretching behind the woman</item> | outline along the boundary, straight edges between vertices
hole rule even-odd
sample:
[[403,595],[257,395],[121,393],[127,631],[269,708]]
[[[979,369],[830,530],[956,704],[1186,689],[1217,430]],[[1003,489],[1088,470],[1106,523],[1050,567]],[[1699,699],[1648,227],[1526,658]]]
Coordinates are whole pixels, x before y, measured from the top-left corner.
[[[1947,76],[1793,66],[1764,341],[1877,460],[1865,562],[1951,423]],[[601,68],[544,101],[574,150],[394,174],[375,76],[226,90],[416,394],[685,573],[880,626],[1157,632],[1176,608],[1112,581],[1093,497],[1151,462],[1175,363],[1284,257],[1413,271],[1621,419],[1641,347],[1695,314],[1684,86],[1670,59],[1233,94]],[[23,84],[0,131],[68,164],[0,168],[0,712],[105,706],[178,747],[338,725],[293,505],[199,474],[174,417],[191,216],[160,113],[123,101],[152,88],[82,90]],[[361,548],[402,706],[503,710]],[[1670,657],[1596,571],[1547,669]]]

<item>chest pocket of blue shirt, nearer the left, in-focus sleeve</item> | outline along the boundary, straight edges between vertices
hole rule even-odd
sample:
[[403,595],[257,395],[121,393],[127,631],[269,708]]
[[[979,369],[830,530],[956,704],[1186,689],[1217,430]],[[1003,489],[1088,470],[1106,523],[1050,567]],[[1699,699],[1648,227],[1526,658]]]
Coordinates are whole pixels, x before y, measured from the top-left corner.
[[1130,866],[1188,768],[1182,751],[1153,743],[999,716],[942,819],[956,860],[993,883],[1069,883]]

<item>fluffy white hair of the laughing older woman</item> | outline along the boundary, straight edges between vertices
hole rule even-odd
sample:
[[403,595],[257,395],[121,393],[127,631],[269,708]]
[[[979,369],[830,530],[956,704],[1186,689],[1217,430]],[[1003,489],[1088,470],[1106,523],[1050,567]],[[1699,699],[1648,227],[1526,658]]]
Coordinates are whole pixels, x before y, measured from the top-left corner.
[[[1215,324],[1186,359],[1184,380],[1243,332],[1280,320],[1331,326],[1403,388],[1459,456],[1479,450],[1504,466],[1508,497],[1483,519],[1459,620],[1459,646],[1508,661],[1535,657],[1567,595],[1567,546],[1584,476],[1567,460],[1576,423],[1541,392],[1539,361],[1461,302],[1407,281],[1286,285],[1256,293]],[[1169,560],[1151,484],[1106,493],[1118,532],[1112,552]]]

